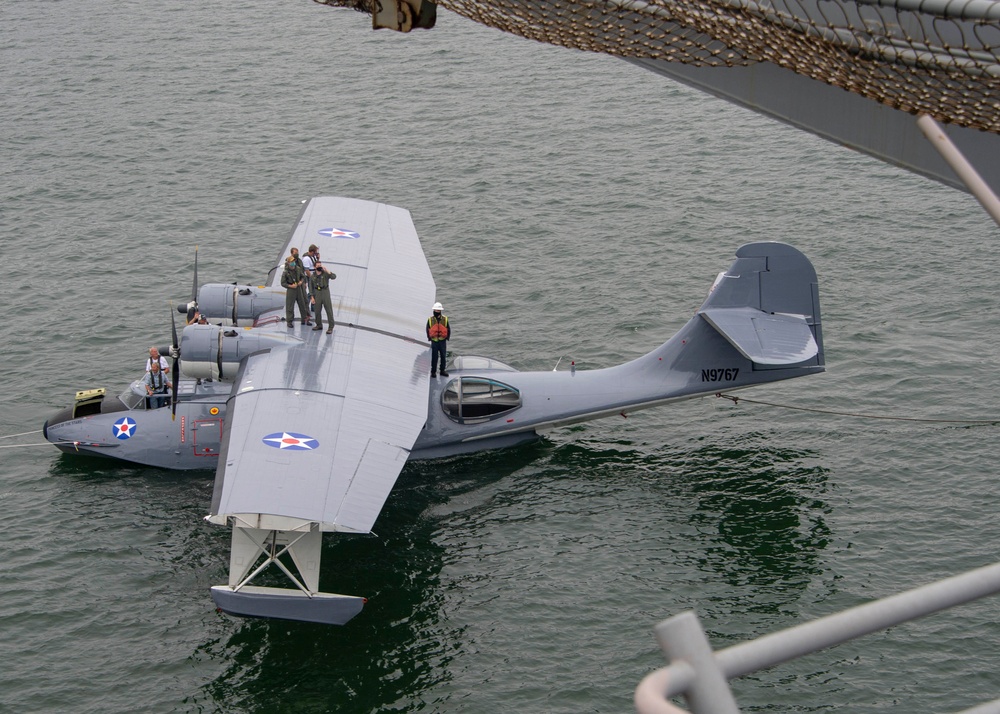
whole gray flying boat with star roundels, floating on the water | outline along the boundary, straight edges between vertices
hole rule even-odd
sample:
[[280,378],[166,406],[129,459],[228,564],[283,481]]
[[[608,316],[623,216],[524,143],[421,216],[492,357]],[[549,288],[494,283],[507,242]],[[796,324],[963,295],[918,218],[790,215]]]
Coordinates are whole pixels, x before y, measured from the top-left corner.
[[[284,322],[283,258],[313,243],[337,275],[330,335]],[[343,624],[365,599],[320,592],[322,533],[370,533],[408,459],[510,446],[824,369],[816,273],[781,243],[744,245],[676,335],[606,369],[518,372],[459,356],[432,379],[425,325],[434,299],[408,211],[314,198],[265,286],[197,291],[198,310],[221,324],[188,325],[179,343],[174,330],[168,406],[151,408],[141,381],[119,396],[87,390],[45,423],[45,436],[68,453],[215,469],[206,519],[233,533],[229,583],[212,588],[215,604]],[[294,587],[251,584],[268,565]]]

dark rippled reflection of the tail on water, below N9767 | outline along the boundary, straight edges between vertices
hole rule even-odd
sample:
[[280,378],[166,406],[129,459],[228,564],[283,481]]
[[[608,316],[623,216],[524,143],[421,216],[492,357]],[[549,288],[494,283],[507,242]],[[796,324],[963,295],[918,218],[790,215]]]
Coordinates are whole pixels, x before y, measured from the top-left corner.
[[620,448],[608,448],[607,441],[601,448],[567,444],[550,465],[599,473],[605,482],[655,482],[674,501],[693,499],[686,519],[698,534],[690,547],[699,553],[699,569],[732,587],[794,597],[823,572],[820,553],[831,535],[821,455],[776,446],[756,433],[695,443],[652,453],[628,442]]

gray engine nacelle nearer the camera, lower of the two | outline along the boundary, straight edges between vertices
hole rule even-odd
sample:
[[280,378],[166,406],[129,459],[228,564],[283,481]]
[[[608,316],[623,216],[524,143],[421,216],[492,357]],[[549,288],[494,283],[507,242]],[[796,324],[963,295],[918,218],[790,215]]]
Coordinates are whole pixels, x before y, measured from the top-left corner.
[[181,333],[181,372],[197,379],[232,380],[244,357],[298,341],[248,328],[188,325]]

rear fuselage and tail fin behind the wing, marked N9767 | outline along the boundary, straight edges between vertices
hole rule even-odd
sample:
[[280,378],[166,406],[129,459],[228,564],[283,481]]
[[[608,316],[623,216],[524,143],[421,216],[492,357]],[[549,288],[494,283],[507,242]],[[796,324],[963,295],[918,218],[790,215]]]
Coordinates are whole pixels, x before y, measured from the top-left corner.
[[[433,437],[418,441],[415,448],[445,456],[508,446],[531,432],[805,377],[822,372],[823,365],[819,291],[812,264],[782,243],[752,243],[736,252],[736,261],[677,334],[630,362],[561,372],[491,370],[489,377],[471,369],[466,376],[466,370],[456,369],[462,375],[459,379],[469,380],[470,385],[495,384],[517,395],[518,406],[498,412],[505,415],[503,421],[487,416],[460,429],[442,410],[432,408],[436,431],[425,429]],[[494,376],[502,383],[494,382]],[[467,395],[462,385],[449,388],[460,389],[460,400],[474,399],[478,392],[470,390]],[[477,403],[485,404],[485,400]]]

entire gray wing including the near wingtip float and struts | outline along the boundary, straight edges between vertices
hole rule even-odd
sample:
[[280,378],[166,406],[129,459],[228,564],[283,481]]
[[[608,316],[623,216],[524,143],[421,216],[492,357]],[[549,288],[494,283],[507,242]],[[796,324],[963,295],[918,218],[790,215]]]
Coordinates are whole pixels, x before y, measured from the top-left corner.
[[[258,319],[254,330],[297,339],[246,357],[233,385],[208,517],[232,522],[233,550],[229,585],[212,594],[232,614],[340,624],[363,598],[318,592],[319,534],[372,530],[424,426],[435,287],[403,209],[314,198],[289,245],[312,243],[337,275],[336,329],[289,329],[281,310]],[[260,555],[266,565],[282,548],[299,579],[276,564],[299,590],[248,585]]]

